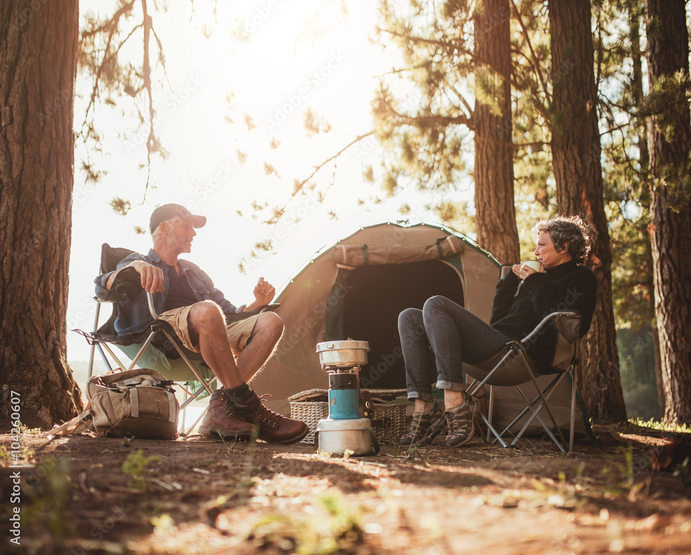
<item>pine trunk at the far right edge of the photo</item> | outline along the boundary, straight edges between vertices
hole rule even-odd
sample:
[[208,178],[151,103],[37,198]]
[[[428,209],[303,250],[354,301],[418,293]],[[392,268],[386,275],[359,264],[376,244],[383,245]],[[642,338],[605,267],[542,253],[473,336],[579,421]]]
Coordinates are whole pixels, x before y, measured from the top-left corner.
[[647,0],[650,90],[659,113],[650,126],[652,255],[655,312],[660,340],[664,418],[691,423],[691,117],[685,90],[660,79],[689,77],[689,39],[683,0]]

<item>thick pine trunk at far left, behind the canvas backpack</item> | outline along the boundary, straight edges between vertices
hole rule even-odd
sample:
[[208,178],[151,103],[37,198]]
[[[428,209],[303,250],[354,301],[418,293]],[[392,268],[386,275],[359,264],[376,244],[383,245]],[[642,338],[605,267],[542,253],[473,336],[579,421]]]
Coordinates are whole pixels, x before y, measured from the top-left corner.
[[77,0],[0,4],[0,419],[81,408],[66,360]]

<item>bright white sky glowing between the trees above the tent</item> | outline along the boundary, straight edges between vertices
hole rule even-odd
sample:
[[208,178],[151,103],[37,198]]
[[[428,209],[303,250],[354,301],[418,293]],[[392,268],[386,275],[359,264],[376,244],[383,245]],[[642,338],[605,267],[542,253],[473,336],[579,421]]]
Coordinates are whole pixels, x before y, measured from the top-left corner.
[[[192,253],[186,257],[200,264],[235,304],[252,300],[259,276],[280,291],[323,246],[362,225],[401,219],[398,209],[404,202],[413,209],[408,216],[411,222],[430,219],[424,209],[430,198],[414,191],[359,206],[358,198],[383,196],[362,177],[367,164],[376,167],[381,162],[373,139],[365,139],[340,157],[335,173],[330,164],[316,175],[314,182],[321,190],[333,181],[323,204],[300,196],[288,204],[287,216],[276,226],[252,219],[253,200],[266,202],[269,208],[285,204],[295,178],[304,179],[314,166],[372,129],[370,101],[378,76],[399,65],[395,48],[382,50],[370,41],[377,21],[376,3],[348,2],[347,16],[334,9],[338,3],[218,2],[218,23],[207,2],[195,2],[193,14],[191,3],[182,1],[171,2],[167,14],[153,14],[167,63],[167,82],[155,91],[157,129],[171,156],[164,162],[153,159],[151,184],[155,188],[149,189],[142,204],[146,171],[140,164],[146,162],[148,127],[133,133],[136,122],[129,108],[122,112],[124,101],[115,108],[95,106],[104,155],[93,155],[93,161],[108,174],[100,184],[85,184],[79,170],[84,148],[77,146],[68,329],[93,325],[93,278],[102,242],[146,253],[151,237],[136,235],[134,227],[148,229],[149,216],[158,204],[178,202],[207,216],[207,226],[198,231]],[[95,8],[113,10],[115,1],[82,0],[82,13]],[[209,39],[202,34],[205,24],[211,32]],[[314,33],[316,27],[321,32]],[[231,31],[238,28],[247,32],[248,41],[230,39]],[[131,51],[124,50],[122,56],[140,58],[140,41],[133,42]],[[155,43],[151,45],[153,61]],[[165,79],[160,70],[157,75]],[[77,93],[89,90],[78,76]],[[84,106],[78,99],[76,128],[84,118]],[[330,122],[331,133],[305,137],[307,108]],[[245,113],[256,125],[253,130],[247,130]],[[271,148],[272,139],[280,142],[278,148]],[[247,154],[242,165],[237,150]],[[278,176],[265,174],[265,162],[274,166]],[[132,202],[126,217],[115,215],[108,206],[115,196]],[[338,220],[329,217],[332,210]],[[240,274],[240,260],[249,259],[254,244],[269,237],[276,254],[266,255],[246,275]],[[104,318],[109,313],[106,309]],[[75,333],[68,333],[68,359],[88,359],[88,346]]]

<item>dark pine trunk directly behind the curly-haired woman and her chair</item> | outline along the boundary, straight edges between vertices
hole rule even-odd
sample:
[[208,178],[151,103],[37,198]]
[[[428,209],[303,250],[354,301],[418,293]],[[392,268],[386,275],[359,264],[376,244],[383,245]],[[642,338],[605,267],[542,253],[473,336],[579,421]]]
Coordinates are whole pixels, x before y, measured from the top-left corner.
[[589,267],[598,280],[593,322],[581,342],[578,383],[596,422],[626,419],[612,309],[612,251],[603,204],[594,47],[589,0],[549,0],[557,209],[578,214],[593,235]]

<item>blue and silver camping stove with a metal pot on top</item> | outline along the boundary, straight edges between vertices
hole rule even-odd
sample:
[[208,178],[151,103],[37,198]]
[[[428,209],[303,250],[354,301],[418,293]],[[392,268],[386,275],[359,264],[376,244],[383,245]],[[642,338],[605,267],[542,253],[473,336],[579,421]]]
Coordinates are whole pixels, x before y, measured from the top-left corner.
[[319,420],[314,448],[330,455],[371,455],[379,451],[369,418],[360,418],[360,367],[367,363],[366,341],[326,341],[316,352],[329,375],[329,418]]

